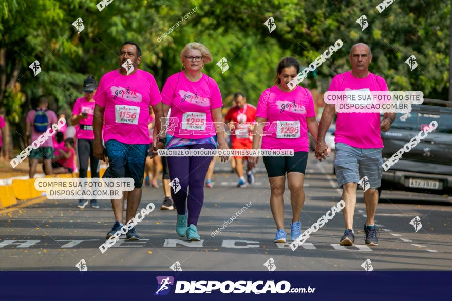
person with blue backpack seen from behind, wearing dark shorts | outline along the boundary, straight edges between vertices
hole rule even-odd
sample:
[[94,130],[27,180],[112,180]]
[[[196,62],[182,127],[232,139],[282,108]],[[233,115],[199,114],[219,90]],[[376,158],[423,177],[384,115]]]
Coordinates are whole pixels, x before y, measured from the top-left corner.
[[[30,145],[47,129],[56,123],[56,114],[52,110],[48,110],[49,102],[45,96],[40,96],[37,102],[36,110],[30,110],[27,113],[25,124],[25,145]],[[39,160],[44,162],[47,174],[52,174],[53,159],[53,140],[51,138],[44,141],[38,148],[32,149],[30,152],[30,178],[34,177],[36,167]]]

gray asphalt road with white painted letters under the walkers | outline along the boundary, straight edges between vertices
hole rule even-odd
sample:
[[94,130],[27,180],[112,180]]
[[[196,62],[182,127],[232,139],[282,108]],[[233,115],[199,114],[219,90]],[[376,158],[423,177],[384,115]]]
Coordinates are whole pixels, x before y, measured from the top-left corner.
[[[451,199],[444,196],[383,191],[376,224],[379,246],[364,244],[365,206],[362,191],[354,219],[355,246],[338,246],[344,231],[342,213],[336,215],[307,242],[292,251],[274,244],[276,226],[270,212],[270,189],[263,165],[255,185],[237,188],[229,163],[217,163],[214,188],[205,189],[204,208],[198,223],[201,242],[177,236],[176,211],[159,210],[162,189],[145,187],[140,207],[149,202],[156,209],[137,226],[139,242],[120,239],[102,254],[99,246],[114,223],[110,202],[100,209],[78,209],[73,200],[45,200],[9,213],[0,212],[0,270],[77,270],[84,259],[88,270],[170,270],[179,262],[187,271],[266,271],[272,258],[278,271],[359,271],[371,260],[374,270],[451,270]],[[160,184],[161,185],[161,184]],[[302,230],[306,230],[340,200],[332,158],[318,163],[312,155],[305,178],[306,202]],[[215,237],[211,233],[246,203],[251,206]],[[447,203],[449,202],[449,203]],[[409,222],[419,216],[416,233]],[[285,224],[290,231],[289,191],[285,193]],[[355,231],[356,231],[355,230]]]

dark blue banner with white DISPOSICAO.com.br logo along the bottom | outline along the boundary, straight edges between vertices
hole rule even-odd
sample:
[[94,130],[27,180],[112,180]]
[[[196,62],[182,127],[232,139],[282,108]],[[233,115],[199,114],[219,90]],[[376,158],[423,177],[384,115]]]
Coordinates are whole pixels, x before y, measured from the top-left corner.
[[1,300],[444,300],[449,271],[0,272]]

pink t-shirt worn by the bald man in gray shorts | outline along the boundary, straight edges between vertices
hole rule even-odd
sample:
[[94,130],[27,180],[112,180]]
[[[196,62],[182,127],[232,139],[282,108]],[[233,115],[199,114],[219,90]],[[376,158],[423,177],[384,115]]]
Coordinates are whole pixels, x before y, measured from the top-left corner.
[[[369,89],[388,91],[386,81],[373,73],[365,78],[354,77],[350,71],[334,76],[329,91]],[[335,143],[358,148],[382,148],[379,113],[337,113]]]

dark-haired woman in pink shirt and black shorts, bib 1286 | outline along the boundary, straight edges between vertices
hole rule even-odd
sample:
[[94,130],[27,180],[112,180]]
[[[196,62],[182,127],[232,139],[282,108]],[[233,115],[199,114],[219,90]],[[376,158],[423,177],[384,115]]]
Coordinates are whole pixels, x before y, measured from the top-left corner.
[[[262,139],[262,149],[293,149],[294,153],[293,156],[263,157],[271,188],[270,208],[277,229],[275,243],[286,243],[287,238],[284,230],[286,175],[292,205],[290,238],[295,240],[301,235],[300,213],[305,204],[303,182],[309,152],[308,130],[317,138],[318,124],[311,92],[300,86],[291,91],[287,85],[299,71],[300,65],[295,58],[281,59],[276,67],[276,85],[263,91],[257,103],[253,149],[259,149]],[[250,157],[253,167],[258,159],[257,156]]]

